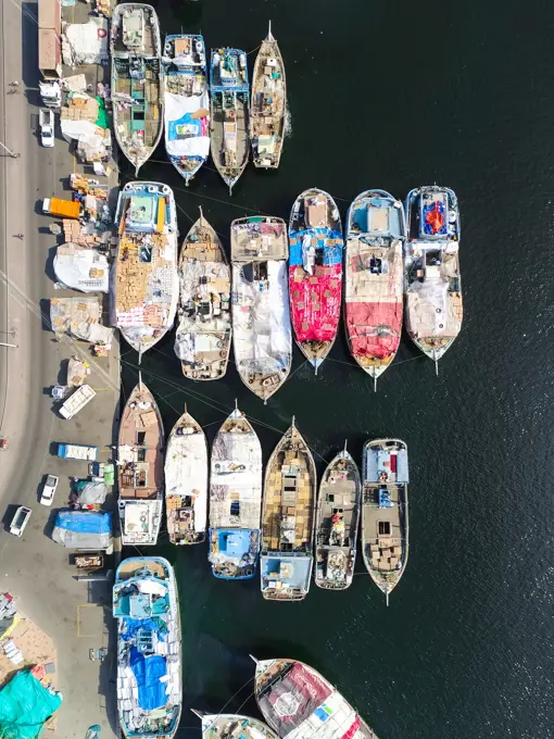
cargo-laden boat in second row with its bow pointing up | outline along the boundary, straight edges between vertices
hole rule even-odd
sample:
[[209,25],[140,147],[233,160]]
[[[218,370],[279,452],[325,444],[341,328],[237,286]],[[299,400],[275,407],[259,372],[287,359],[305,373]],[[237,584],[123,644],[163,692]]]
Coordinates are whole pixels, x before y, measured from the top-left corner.
[[189,379],[219,379],[231,342],[230,267],[219,237],[202,215],[179,256],[179,325],[175,353]]

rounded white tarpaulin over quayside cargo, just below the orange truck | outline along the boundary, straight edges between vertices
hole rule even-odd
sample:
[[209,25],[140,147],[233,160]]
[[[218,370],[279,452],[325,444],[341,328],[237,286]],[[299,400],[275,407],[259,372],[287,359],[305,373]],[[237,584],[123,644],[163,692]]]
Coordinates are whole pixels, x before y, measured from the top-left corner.
[[58,247],[54,273],[60,283],[74,290],[109,291],[108,259],[96,249],[81,249],[74,243]]

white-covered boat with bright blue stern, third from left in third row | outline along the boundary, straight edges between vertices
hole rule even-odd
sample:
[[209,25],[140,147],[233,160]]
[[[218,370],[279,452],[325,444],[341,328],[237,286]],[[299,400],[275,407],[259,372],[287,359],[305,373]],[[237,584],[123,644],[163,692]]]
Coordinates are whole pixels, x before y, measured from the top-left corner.
[[215,577],[254,577],[260,553],[262,447],[238,410],[217,431],[210,474],[210,554]]

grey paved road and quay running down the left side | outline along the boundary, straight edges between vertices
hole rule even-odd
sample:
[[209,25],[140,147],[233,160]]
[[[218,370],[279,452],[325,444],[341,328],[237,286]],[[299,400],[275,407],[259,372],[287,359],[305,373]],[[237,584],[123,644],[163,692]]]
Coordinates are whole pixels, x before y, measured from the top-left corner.
[[[45,389],[64,380],[64,361],[75,347],[53,342],[41,318],[47,299],[63,293],[54,292],[50,278],[54,239],[38,201],[64,195],[74,160],[60,134],[53,149],[40,147],[37,139],[37,7],[25,2],[23,9],[22,15],[15,0],[0,3],[0,140],[21,153],[20,159],[0,158],[0,341],[18,345],[0,347],[0,434],[10,438],[10,449],[0,458],[0,515],[5,527],[18,504],[29,505],[33,514],[22,539],[0,528],[0,588],[10,589],[58,644],[64,703],[56,735],[84,737],[88,726],[100,724],[103,736],[110,737],[113,652],[102,665],[89,660],[89,649],[106,646],[110,629],[113,635],[109,608],[98,605],[102,600],[110,603],[110,592],[104,586],[91,591],[92,586],[74,579],[67,553],[48,536],[55,511],[38,505],[37,493],[47,473],[58,474],[54,508],[64,505],[70,476],[87,474],[83,465],[52,456],[53,442],[93,443],[108,458],[116,421],[118,362],[112,356],[97,363],[90,384],[98,396],[83,417],[64,422],[56,416]],[[15,79],[23,80],[21,92],[7,95]],[[14,238],[17,233],[24,234],[23,242]]]

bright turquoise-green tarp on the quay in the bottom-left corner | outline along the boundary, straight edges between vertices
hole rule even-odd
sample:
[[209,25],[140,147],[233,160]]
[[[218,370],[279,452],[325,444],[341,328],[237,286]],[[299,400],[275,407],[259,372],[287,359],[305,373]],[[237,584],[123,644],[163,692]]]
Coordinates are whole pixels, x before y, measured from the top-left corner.
[[23,669],[0,691],[0,739],[35,739],[62,702],[28,669]]

